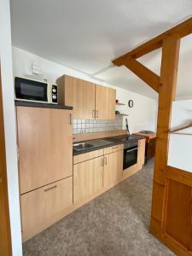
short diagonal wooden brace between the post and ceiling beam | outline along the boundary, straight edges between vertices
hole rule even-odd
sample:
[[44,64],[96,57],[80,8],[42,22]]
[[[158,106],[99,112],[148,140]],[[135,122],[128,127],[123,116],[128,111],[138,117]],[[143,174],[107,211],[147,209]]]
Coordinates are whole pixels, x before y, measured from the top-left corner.
[[152,89],[159,92],[160,77],[148,69],[148,67],[144,67],[142,63],[134,60],[133,58],[125,59],[124,65],[135,73],[137,77],[147,83]]

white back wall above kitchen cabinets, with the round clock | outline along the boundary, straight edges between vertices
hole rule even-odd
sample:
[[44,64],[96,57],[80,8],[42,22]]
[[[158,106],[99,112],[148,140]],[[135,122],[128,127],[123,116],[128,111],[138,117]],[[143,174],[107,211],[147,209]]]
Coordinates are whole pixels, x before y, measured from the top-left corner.
[[[48,61],[37,55],[32,55],[22,49],[13,47],[13,67],[15,76],[23,77],[25,74],[32,73],[32,61],[40,64],[45,78],[53,83],[55,83],[55,79],[59,78],[62,74],[68,74],[79,79],[86,79],[96,84],[115,88],[117,90],[117,99],[119,99],[119,102],[126,103],[125,106],[118,107],[117,110],[129,114],[128,120],[131,132],[156,130],[157,102],[154,99],[139,95],[129,90],[111,86],[110,84],[102,83],[99,80],[90,78],[84,73],[79,73],[73,69],[63,67],[55,62]],[[129,108],[127,106],[127,102],[130,99],[134,100],[134,108]]]

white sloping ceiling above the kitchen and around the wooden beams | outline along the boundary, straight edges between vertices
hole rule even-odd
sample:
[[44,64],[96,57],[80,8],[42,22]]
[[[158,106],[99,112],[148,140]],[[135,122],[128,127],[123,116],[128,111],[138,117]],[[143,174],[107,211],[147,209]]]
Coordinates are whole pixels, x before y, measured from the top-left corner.
[[[191,15],[191,0],[11,1],[13,45],[151,97],[153,90],[111,61]],[[181,48],[177,96],[192,96],[192,36]],[[158,73],[160,50],[140,61]]]

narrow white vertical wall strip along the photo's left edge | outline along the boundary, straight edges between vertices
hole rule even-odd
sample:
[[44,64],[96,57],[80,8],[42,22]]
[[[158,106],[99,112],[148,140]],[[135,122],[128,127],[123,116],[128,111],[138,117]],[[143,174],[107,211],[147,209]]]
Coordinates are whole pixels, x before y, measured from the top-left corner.
[[0,0],[0,59],[13,256],[22,255],[9,0]]

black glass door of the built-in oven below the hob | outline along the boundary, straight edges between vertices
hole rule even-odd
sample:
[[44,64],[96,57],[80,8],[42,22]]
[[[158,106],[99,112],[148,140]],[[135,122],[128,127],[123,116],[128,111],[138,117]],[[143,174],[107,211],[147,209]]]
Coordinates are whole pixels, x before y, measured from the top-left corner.
[[124,149],[124,170],[137,164],[138,147]]

